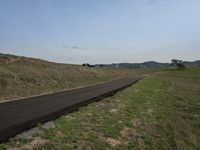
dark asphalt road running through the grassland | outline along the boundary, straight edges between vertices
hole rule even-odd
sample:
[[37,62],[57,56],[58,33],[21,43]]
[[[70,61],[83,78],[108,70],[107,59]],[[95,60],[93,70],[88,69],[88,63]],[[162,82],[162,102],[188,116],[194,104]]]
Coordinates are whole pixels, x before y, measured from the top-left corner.
[[90,102],[113,95],[139,79],[122,78],[96,86],[0,103],[0,143],[38,123],[54,120]]

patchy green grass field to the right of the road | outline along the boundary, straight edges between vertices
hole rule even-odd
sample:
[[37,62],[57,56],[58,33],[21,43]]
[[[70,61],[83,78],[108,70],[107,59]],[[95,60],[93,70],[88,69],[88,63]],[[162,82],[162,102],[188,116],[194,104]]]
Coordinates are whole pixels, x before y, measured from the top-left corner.
[[[200,69],[146,77],[42,129],[35,149],[200,149]],[[31,139],[34,141],[35,137]],[[17,143],[17,144],[16,144]],[[33,146],[11,139],[0,148]]]

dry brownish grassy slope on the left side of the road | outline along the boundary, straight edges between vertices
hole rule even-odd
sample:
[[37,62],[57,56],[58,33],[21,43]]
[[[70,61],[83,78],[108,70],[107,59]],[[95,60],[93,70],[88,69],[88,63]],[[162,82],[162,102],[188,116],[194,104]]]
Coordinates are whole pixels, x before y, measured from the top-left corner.
[[0,102],[136,76],[154,70],[88,68],[0,54]]

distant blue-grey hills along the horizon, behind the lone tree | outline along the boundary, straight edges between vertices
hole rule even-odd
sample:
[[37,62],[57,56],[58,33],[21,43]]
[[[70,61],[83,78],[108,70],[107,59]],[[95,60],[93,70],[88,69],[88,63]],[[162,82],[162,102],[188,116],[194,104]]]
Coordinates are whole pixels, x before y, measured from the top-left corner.
[[[186,66],[200,67],[200,61],[185,61]],[[113,64],[96,64],[96,67],[112,67],[112,68],[161,68],[171,67],[170,63],[159,63],[155,61],[147,61],[144,63],[113,63]]]

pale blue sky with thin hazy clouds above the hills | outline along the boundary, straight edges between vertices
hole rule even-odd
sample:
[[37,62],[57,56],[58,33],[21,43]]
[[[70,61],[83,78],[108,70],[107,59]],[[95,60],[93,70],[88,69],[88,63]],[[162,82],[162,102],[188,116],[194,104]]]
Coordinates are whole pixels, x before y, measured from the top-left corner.
[[81,64],[200,59],[199,0],[0,0],[0,52]]

